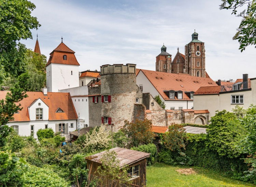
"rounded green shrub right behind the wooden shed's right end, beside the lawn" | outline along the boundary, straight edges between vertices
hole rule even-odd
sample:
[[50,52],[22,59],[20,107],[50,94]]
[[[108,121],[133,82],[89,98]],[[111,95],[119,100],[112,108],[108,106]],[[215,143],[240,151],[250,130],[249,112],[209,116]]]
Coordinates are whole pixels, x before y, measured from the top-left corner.
[[147,165],[151,165],[154,163],[157,153],[157,148],[154,143],[150,143],[148,145],[141,145],[139,147],[132,147],[131,150],[151,153],[150,157],[147,158]]

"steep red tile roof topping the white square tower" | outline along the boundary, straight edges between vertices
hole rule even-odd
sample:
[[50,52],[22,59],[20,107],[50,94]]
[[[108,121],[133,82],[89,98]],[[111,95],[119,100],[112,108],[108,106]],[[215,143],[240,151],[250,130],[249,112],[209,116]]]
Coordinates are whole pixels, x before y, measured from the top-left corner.
[[[74,51],[69,49],[64,43],[61,42],[60,45],[58,45],[58,47],[50,53],[50,58],[46,66],[48,66],[51,63],[79,66],[80,64],[77,62],[74,53]],[[63,59],[63,55],[67,55],[67,60]]]

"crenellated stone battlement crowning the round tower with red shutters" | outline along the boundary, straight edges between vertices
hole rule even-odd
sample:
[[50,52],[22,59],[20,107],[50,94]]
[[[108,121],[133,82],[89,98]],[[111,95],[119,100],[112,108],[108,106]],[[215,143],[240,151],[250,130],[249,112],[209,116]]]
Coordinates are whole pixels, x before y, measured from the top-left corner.
[[106,64],[100,66],[100,75],[113,73],[136,73],[136,64]]

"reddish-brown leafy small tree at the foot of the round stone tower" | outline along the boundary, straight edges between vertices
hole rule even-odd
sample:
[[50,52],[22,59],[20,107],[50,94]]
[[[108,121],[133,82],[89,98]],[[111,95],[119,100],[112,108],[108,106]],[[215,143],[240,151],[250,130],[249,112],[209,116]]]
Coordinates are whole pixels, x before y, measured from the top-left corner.
[[129,122],[125,120],[122,131],[127,135],[131,146],[138,147],[139,145],[152,143],[154,140],[154,133],[151,132],[152,122],[148,119]]

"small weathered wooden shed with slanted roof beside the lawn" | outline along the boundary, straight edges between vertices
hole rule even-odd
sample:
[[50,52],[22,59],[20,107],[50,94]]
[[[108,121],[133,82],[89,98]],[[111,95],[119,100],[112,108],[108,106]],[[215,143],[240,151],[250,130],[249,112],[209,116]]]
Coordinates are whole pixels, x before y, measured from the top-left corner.
[[[146,158],[150,156],[150,153],[144,153],[119,147],[112,148],[109,151],[114,151],[116,153],[120,168],[125,166],[129,167],[128,176],[130,177],[130,180],[127,182],[127,184],[129,184],[128,186],[146,186]],[[101,158],[105,152],[106,151],[102,151],[85,158],[87,161],[87,168],[89,169],[89,173],[92,175],[95,173],[97,168],[101,166]]]

